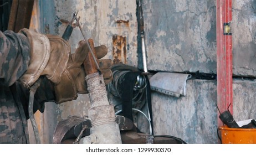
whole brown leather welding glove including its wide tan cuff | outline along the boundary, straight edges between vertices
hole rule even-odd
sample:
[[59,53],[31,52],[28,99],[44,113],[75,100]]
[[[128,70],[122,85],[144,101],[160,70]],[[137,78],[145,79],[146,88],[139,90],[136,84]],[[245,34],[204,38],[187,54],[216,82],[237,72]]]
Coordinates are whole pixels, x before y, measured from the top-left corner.
[[[22,29],[19,33],[26,35],[30,42],[30,61],[27,71],[19,81],[27,88],[32,86],[39,76],[46,76],[53,84],[55,102],[75,100],[77,94],[86,94],[87,86],[83,62],[89,53],[86,44],[81,44],[74,54],[70,45],[56,35],[43,35],[33,30]],[[104,45],[95,47],[98,59],[107,54]],[[99,60],[99,66],[107,84],[112,80],[110,59]]]

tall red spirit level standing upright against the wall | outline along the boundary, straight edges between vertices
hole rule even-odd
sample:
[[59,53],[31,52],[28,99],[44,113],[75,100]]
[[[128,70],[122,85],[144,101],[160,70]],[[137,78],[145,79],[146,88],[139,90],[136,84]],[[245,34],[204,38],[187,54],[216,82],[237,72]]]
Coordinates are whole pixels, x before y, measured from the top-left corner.
[[[232,0],[217,0],[217,105],[221,112],[233,113],[232,35],[224,29],[232,21]],[[230,105],[230,106],[229,106]],[[229,106],[229,108],[228,108]],[[218,118],[218,126],[223,123]]]

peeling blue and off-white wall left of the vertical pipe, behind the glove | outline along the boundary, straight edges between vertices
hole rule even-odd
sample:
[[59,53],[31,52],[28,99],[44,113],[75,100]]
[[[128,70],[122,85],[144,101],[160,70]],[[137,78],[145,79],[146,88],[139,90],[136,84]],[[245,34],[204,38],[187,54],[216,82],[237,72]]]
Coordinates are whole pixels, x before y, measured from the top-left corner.
[[[107,46],[108,54],[105,58],[114,59],[115,54],[119,54],[120,62],[137,66],[136,1],[38,0],[38,6],[41,33],[62,36],[66,24],[62,23],[61,19],[71,20],[73,13],[79,11],[78,17],[86,38],[94,39],[95,46]],[[115,37],[125,39],[115,44],[113,40]],[[77,27],[69,39],[71,53],[78,48],[80,40],[83,40],[83,35]],[[115,48],[120,49],[120,53]],[[45,112],[39,116],[40,125],[46,123],[49,126],[44,125],[44,130],[52,132],[43,135],[45,139],[43,142],[52,142],[51,138],[58,121],[69,115],[87,115],[89,108],[90,100],[87,94],[79,95],[78,99],[59,105],[45,104]]]

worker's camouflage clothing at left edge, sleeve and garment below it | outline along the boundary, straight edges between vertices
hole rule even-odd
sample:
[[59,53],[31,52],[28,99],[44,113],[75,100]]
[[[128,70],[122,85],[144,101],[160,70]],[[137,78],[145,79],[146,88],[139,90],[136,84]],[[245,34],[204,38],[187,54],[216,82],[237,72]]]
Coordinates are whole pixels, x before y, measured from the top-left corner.
[[11,89],[28,67],[29,49],[23,34],[0,32],[0,143],[28,143],[21,100]]

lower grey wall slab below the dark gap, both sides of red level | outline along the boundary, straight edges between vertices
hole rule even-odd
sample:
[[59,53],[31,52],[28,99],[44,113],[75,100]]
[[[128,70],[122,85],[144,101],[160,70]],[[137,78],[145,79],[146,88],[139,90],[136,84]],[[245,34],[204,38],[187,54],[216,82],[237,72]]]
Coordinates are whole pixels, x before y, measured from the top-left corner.
[[[216,80],[188,80],[187,95],[152,92],[155,135],[172,135],[187,143],[218,143]],[[235,121],[255,119],[256,81],[234,79]],[[221,133],[220,133],[221,134]]]

